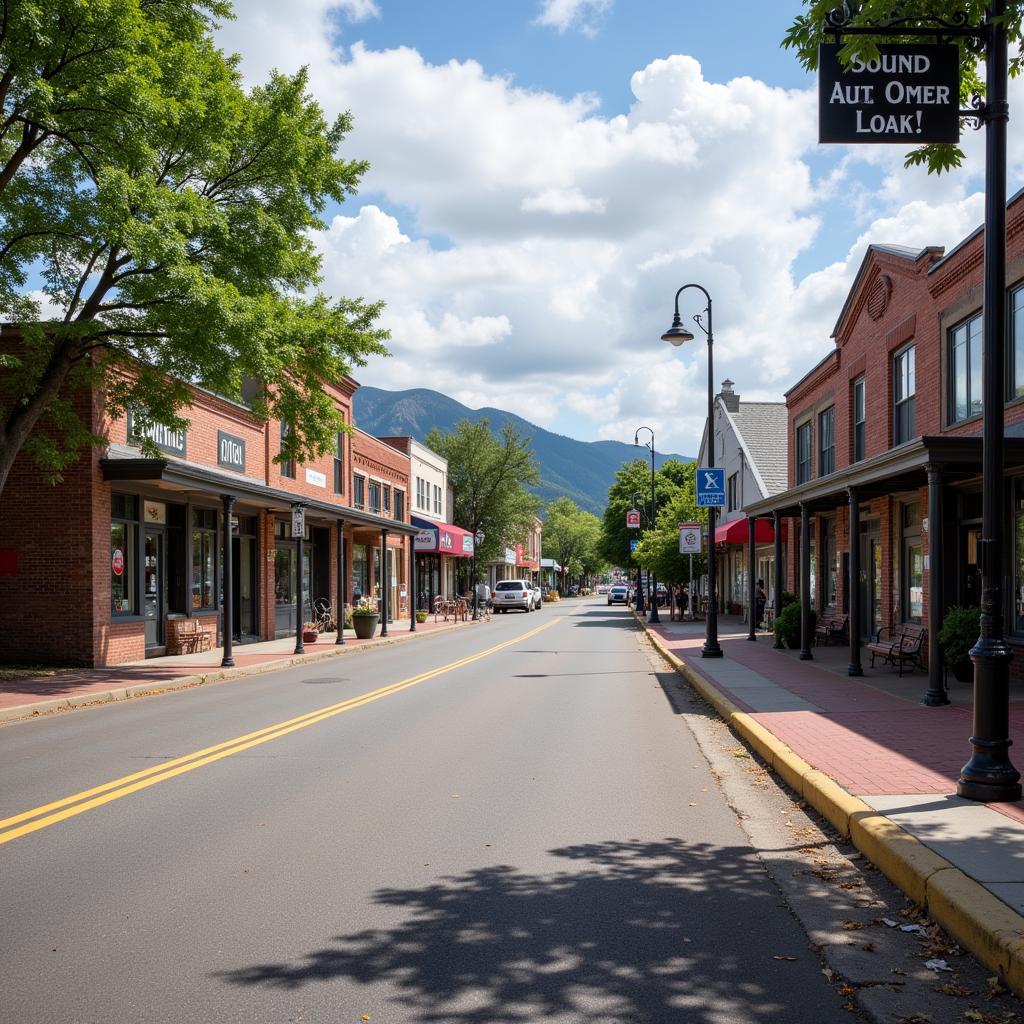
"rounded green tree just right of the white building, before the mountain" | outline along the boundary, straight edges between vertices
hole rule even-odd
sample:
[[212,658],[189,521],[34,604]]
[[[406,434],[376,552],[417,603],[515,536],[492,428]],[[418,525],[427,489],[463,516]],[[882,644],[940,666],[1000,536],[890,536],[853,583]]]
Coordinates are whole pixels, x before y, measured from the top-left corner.
[[520,543],[541,508],[526,489],[539,479],[529,441],[511,424],[496,436],[490,421],[481,419],[460,420],[451,433],[435,427],[426,444],[447,459],[456,522],[473,534],[483,530],[477,560],[495,558]]

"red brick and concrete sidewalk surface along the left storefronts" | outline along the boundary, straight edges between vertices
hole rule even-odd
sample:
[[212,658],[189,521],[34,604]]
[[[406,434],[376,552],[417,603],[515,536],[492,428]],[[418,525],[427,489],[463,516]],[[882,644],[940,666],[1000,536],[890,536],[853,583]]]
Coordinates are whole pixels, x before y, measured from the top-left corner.
[[198,677],[209,677],[213,681],[220,678],[222,673],[228,678],[245,676],[249,674],[246,670],[262,671],[275,665],[285,668],[302,660],[323,658],[332,651],[404,642],[465,625],[467,624],[443,621],[434,623],[428,618],[426,623],[417,623],[416,632],[412,633],[408,622],[394,623],[388,626],[387,637],[378,636],[373,640],[356,640],[350,632],[346,632],[344,647],[335,644],[334,633],[326,633],[316,643],[305,644],[303,654],[294,652],[295,641],[291,637],[255,644],[237,644],[233,650],[233,669],[221,668],[223,650],[217,647],[199,654],[152,658],[106,669],[77,669],[54,676],[26,676],[24,679],[0,682],[0,714],[19,708],[25,710],[26,715],[30,715],[33,714],[33,705],[53,700],[75,700],[79,703],[88,701],[90,697],[99,700],[112,691],[128,687],[144,688],[152,685],[154,688],[166,689],[171,688],[175,680],[198,681]]

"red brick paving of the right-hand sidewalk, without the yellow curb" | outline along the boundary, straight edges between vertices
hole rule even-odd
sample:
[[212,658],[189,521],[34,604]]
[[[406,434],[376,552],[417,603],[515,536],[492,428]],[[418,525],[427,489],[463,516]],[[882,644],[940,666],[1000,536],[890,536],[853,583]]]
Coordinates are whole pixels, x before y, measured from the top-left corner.
[[[814,706],[810,710],[765,710],[758,707],[756,690],[720,678],[722,662],[699,656],[702,632],[671,624],[647,629],[738,708],[854,796],[955,791],[959,770],[971,755],[970,708],[926,708],[919,702],[920,695],[909,699],[887,692],[884,675],[874,674],[870,680],[837,675],[816,662],[799,660],[795,651],[774,650],[767,634],[759,636],[757,643],[740,636],[722,638],[726,659]],[[896,687],[896,674],[892,676]],[[922,684],[922,692],[925,686],[927,683]],[[1024,701],[1014,700],[1011,738],[1021,734]],[[988,806],[1024,822],[1020,803]]]

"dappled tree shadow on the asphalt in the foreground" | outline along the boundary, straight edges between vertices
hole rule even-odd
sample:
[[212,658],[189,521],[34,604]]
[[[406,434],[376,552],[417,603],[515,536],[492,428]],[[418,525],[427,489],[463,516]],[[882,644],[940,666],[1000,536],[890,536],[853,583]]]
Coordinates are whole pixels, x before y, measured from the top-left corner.
[[[382,889],[404,911],[234,985],[385,986],[402,1020],[721,1024],[841,1019],[816,954],[756,855],[668,838],[552,850],[551,873],[498,864]],[[346,1000],[347,1001],[347,1000]]]

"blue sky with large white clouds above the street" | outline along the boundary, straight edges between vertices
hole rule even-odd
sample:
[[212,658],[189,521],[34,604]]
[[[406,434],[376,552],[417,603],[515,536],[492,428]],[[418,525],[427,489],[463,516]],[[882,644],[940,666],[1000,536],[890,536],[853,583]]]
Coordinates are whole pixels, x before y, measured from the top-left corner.
[[[659,336],[715,299],[716,377],[781,400],[829,349],[871,242],[951,247],[982,216],[981,138],[942,178],[899,146],[819,146],[798,0],[238,0],[248,82],[309,69],[350,111],[359,194],[315,238],[324,290],[383,299],[365,384],[433,387],[582,439],[692,455],[706,350]],[[1009,182],[1024,180],[1024,83]],[[683,313],[699,311],[690,293]]]

